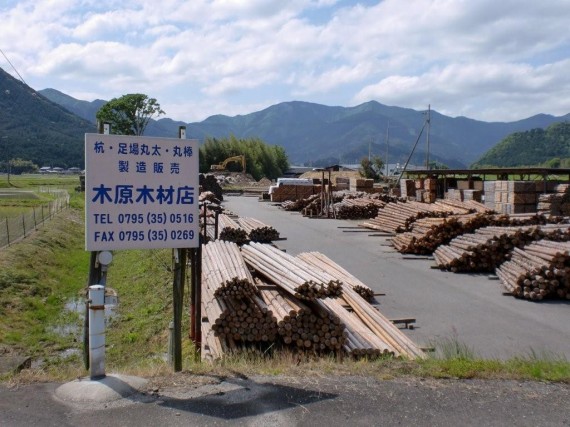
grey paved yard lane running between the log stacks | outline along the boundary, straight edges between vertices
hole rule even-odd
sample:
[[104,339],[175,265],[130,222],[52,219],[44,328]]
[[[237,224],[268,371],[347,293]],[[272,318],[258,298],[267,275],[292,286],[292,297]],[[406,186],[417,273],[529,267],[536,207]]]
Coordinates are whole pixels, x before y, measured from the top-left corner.
[[432,269],[425,257],[396,252],[388,237],[339,228],[359,221],[305,218],[255,197],[227,196],[224,206],[275,227],[287,239],[277,245],[288,253],[322,252],[385,293],[378,297],[380,310],[389,318],[415,318],[416,328],[406,333],[421,345],[459,341],[487,358],[570,358],[568,302],[517,300],[502,295],[500,282],[488,275]]

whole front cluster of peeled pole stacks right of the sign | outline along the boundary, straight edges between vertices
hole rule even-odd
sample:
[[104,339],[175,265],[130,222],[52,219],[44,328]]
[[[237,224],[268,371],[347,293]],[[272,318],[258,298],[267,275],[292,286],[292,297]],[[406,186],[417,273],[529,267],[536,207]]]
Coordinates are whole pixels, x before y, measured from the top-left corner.
[[[292,257],[259,243],[240,251],[222,241],[206,244],[202,253],[205,358],[276,342],[311,354],[425,357],[357,292],[370,297],[370,288],[322,254]],[[307,283],[334,286],[322,293],[299,289]]]

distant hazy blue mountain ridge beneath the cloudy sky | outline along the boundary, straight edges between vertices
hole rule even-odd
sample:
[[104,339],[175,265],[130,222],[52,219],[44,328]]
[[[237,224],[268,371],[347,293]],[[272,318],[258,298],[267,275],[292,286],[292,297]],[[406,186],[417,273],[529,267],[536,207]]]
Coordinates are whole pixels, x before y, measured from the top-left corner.
[[[94,120],[101,101],[78,101],[53,89],[40,91],[54,102],[82,117]],[[152,94],[151,94],[152,95]],[[158,100],[160,102],[160,99]],[[168,111],[166,114],[168,115]],[[544,128],[568,120],[538,114],[516,122],[482,122],[466,117],[448,117],[432,110],[430,159],[450,167],[466,167],[513,132]],[[283,147],[292,163],[326,166],[358,163],[364,156],[405,162],[425,120],[425,114],[409,108],[371,101],[355,107],[331,107],[309,102],[283,102],[264,110],[228,117],[215,115],[201,122],[184,123],[162,118],[151,120],[145,135],[175,137],[180,125],[188,138],[260,138]],[[426,132],[419,140],[412,164],[424,164]]]

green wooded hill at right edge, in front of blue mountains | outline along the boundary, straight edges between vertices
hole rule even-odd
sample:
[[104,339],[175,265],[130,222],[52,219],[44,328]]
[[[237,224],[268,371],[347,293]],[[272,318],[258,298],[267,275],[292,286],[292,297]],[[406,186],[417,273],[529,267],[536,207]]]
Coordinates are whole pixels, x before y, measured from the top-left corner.
[[513,133],[487,151],[473,166],[556,167],[563,159],[570,159],[570,122]]

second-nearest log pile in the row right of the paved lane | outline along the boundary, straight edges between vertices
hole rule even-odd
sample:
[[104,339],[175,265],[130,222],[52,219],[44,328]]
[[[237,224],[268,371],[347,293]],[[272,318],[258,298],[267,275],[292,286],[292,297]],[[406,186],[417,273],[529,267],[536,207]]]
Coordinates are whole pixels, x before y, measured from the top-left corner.
[[492,272],[515,247],[544,238],[564,241],[568,236],[568,225],[484,227],[456,237],[448,245],[438,247],[433,255],[442,270]]

